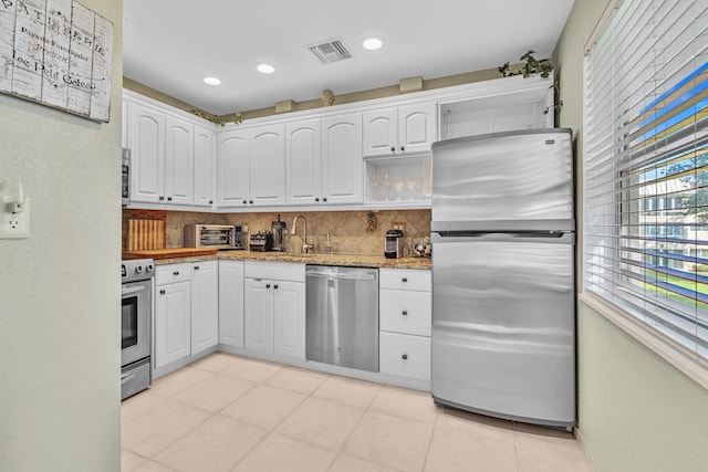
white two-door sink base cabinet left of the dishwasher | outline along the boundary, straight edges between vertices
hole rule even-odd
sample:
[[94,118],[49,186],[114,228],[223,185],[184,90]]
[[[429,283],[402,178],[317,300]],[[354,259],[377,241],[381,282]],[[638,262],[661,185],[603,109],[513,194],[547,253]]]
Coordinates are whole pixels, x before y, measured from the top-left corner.
[[244,277],[247,352],[304,359],[304,265],[247,262]]

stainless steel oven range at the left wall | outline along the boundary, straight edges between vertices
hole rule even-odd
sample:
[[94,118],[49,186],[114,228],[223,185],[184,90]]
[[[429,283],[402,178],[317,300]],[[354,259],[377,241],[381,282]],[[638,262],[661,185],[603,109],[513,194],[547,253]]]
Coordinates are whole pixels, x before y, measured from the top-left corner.
[[121,264],[121,399],[150,386],[153,324],[152,259],[123,261]]

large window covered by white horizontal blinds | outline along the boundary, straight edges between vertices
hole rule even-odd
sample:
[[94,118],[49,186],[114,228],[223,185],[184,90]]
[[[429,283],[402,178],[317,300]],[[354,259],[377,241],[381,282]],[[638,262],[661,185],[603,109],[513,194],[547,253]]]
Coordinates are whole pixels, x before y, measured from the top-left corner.
[[708,0],[620,0],[585,61],[585,291],[708,359]]

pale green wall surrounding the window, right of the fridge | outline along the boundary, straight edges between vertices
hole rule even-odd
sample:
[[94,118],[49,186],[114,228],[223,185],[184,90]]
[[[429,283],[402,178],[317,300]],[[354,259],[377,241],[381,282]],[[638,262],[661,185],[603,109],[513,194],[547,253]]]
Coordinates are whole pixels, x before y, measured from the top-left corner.
[[[563,99],[558,124],[573,128],[579,185],[584,139],[583,48],[607,3],[575,1],[554,54]],[[582,189],[579,192],[577,219],[582,222]],[[579,430],[601,471],[706,470],[706,389],[582,301],[577,343]]]

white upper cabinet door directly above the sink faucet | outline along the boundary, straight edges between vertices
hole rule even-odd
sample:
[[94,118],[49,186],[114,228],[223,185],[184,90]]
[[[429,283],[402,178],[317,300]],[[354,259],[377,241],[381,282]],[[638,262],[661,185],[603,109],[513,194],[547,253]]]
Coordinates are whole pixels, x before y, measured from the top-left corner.
[[287,202],[313,204],[322,199],[320,120],[285,125]]

